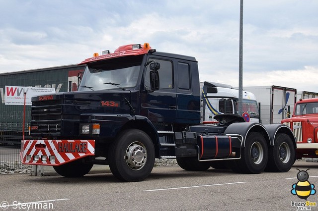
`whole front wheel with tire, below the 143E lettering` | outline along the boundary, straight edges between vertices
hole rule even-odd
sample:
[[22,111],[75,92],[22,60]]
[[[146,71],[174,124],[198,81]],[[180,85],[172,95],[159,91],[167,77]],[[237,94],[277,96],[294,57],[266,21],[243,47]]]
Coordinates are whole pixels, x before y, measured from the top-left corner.
[[155,147],[142,130],[128,129],[116,138],[108,152],[113,175],[124,182],[146,179],[155,164]]

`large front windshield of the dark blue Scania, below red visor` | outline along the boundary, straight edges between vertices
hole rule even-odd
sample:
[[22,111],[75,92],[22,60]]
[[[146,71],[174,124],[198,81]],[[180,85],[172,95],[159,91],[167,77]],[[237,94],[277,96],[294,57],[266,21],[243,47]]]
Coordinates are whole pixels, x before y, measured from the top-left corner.
[[79,91],[136,87],[142,56],[125,56],[87,64]]

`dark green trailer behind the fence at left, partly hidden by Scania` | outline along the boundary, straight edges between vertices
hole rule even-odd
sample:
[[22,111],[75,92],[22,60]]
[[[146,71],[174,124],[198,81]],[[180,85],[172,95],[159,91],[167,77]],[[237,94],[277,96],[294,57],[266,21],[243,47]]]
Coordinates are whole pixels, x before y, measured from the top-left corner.
[[[0,74],[0,172],[3,172],[4,168],[12,168],[8,163],[20,161],[19,149],[23,125],[24,106],[8,105],[5,100],[8,97],[24,99],[25,90],[21,87],[55,88],[56,92],[75,91],[77,75],[83,70],[83,65],[67,65]],[[30,120],[31,106],[25,106],[26,137]]]

